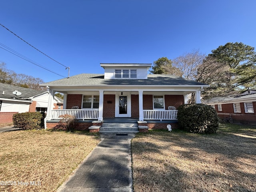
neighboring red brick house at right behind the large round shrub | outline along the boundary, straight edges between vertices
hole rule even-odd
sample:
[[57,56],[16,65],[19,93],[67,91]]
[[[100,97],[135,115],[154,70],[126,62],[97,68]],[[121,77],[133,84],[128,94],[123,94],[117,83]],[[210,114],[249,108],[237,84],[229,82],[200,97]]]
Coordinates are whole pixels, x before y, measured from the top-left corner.
[[235,97],[216,97],[204,102],[216,109],[223,120],[230,116],[234,123],[256,124],[256,90],[249,89]]

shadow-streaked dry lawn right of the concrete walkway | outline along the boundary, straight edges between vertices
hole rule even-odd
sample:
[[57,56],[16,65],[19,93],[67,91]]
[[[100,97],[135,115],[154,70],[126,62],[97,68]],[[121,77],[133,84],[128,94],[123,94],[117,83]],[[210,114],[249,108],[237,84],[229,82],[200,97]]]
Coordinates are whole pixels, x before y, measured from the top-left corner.
[[256,127],[138,134],[132,161],[134,192],[256,191]]

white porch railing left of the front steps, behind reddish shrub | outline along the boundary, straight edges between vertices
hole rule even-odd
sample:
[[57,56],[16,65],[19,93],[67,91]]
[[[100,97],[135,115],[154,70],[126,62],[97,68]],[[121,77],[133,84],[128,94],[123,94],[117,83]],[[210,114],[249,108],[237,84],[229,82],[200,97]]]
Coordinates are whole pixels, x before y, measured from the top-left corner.
[[99,110],[98,109],[62,109],[62,110],[52,110],[51,119],[60,119],[60,115],[72,115],[76,119],[98,119]]

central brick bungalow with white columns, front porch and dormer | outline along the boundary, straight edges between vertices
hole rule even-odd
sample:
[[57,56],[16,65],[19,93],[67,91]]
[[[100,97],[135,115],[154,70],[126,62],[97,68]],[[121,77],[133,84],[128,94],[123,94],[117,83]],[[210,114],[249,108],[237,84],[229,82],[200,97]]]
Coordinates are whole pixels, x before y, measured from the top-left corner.
[[107,126],[111,132],[114,125],[107,124],[117,122],[122,126],[138,123],[141,130],[176,126],[178,106],[188,102],[190,93],[195,93],[196,103],[200,103],[200,90],[208,86],[173,75],[148,74],[151,64],[100,66],[104,74],[78,74],[41,85],[50,89],[51,96],[56,91],[64,94],[63,110],[48,108],[47,128],[56,126],[63,114],[76,116],[76,129],[80,130],[102,132]]

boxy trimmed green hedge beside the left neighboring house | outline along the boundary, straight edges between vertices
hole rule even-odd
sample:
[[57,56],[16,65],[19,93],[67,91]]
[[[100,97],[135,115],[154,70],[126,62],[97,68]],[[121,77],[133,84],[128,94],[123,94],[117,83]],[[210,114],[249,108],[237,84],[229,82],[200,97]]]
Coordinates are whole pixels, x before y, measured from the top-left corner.
[[42,129],[44,116],[40,112],[16,113],[12,116],[13,125],[22,130]]

